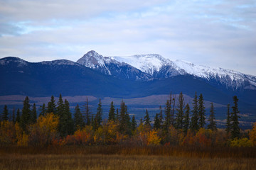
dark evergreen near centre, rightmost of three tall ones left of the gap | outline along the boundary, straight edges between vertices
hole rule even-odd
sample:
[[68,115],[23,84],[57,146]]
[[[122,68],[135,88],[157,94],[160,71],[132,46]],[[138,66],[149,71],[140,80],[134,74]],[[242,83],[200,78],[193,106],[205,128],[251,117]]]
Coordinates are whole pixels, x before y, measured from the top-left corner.
[[122,134],[130,134],[130,118],[127,111],[127,106],[124,101],[121,102],[120,107],[120,120],[119,120],[119,132]]

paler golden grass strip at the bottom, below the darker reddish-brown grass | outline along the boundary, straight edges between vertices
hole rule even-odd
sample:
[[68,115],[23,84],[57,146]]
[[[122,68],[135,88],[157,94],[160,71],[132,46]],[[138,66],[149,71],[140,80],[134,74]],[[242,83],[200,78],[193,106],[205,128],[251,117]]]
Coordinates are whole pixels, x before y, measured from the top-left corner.
[[8,154],[0,169],[255,169],[256,159],[102,154]]

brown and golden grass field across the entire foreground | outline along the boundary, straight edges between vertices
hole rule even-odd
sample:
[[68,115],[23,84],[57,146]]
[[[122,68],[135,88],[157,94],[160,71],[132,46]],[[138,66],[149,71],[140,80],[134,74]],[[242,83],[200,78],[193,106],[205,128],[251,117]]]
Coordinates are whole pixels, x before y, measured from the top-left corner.
[[1,147],[0,169],[255,169],[255,148]]

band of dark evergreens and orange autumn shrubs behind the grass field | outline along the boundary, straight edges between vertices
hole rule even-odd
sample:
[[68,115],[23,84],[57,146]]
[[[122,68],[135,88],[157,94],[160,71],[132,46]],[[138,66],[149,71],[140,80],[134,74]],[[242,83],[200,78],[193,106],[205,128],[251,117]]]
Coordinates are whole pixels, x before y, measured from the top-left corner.
[[[1,146],[49,146],[49,145],[127,145],[127,146],[195,146],[195,147],[254,147],[256,145],[256,123],[252,130],[240,130],[238,97],[233,97],[233,106],[227,106],[226,128],[218,129],[215,109],[210,105],[210,116],[206,118],[203,94],[193,98],[192,106],[184,103],[182,92],[178,101],[170,94],[164,108],[159,106],[154,120],[146,110],[144,119],[129,115],[128,107],[121,102],[119,108],[110,103],[108,118],[102,120],[101,100],[97,113],[85,105],[75,106],[70,112],[67,100],[60,94],[55,103],[54,96],[43,106],[40,113],[36,104],[26,97],[23,108],[11,113],[7,106],[1,114]],[[139,125],[138,125],[139,124]]]

